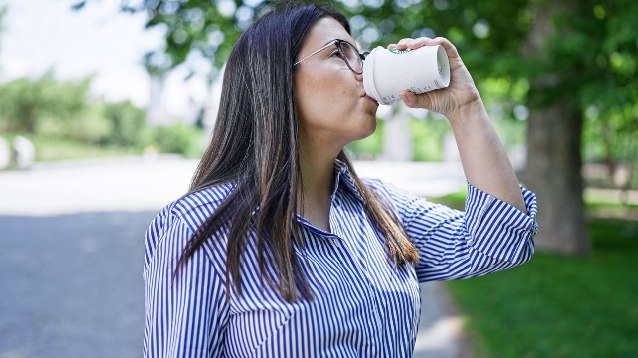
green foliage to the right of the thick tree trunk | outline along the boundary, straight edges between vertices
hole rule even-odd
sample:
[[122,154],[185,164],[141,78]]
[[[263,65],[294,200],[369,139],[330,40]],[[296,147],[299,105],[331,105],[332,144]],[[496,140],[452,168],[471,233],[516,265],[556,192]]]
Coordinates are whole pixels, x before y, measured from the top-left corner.
[[555,62],[571,62],[580,72],[566,84],[584,113],[582,154],[588,161],[637,159],[636,17],[635,1],[587,1],[578,17],[561,19],[562,29],[572,29],[570,41],[554,38],[556,57],[563,58]]

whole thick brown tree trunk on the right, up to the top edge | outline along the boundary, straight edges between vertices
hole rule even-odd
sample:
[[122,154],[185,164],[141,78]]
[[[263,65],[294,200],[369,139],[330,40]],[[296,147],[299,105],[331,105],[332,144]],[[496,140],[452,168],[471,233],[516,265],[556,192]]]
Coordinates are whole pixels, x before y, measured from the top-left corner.
[[[578,10],[568,1],[537,0],[532,3],[537,17],[523,53],[533,61],[551,63],[549,39],[556,33],[554,16],[575,15]],[[554,71],[559,72],[558,69]],[[530,82],[528,162],[524,180],[528,189],[537,195],[538,235],[535,243],[538,250],[584,255],[588,254],[591,245],[582,203],[582,113],[575,105],[575,92],[574,98],[565,96],[549,107],[544,101],[546,89],[559,85],[562,77],[569,75],[577,75],[577,69],[570,69],[568,73],[545,73]]]

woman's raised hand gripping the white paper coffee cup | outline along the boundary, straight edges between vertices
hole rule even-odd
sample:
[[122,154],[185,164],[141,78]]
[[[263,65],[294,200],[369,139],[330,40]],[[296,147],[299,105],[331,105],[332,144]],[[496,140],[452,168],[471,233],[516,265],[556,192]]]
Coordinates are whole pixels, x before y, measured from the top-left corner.
[[422,94],[413,94],[401,91],[401,99],[410,108],[425,108],[429,111],[441,113],[449,120],[462,118],[471,111],[480,110],[483,104],[479,91],[474,85],[470,72],[461,61],[456,47],[445,38],[417,38],[401,39],[399,43],[389,45],[388,48],[412,50],[424,47],[442,45],[450,60],[450,84],[442,89],[433,90]]

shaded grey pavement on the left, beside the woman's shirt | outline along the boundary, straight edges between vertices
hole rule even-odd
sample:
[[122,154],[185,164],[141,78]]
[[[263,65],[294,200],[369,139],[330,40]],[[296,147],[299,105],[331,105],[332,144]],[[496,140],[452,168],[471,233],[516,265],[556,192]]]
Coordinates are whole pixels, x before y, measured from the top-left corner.
[[154,215],[0,217],[0,357],[141,357]]

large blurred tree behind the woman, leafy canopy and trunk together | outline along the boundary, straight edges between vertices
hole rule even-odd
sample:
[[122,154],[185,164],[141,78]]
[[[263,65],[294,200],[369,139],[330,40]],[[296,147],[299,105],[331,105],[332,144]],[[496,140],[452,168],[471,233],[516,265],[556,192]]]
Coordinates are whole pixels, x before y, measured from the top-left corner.
[[[78,2],[80,9],[87,1]],[[151,68],[203,57],[211,82],[241,32],[271,1],[122,0],[166,29]],[[361,50],[401,38],[444,36],[456,45],[493,117],[527,120],[523,182],[538,196],[539,249],[587,254],[582,154],[632,186],[638,117],[638,3],[630,0],[340,0]],[[197,68],[191,68],[197,72]],[[586,140],[583,144],[582,139]]]

